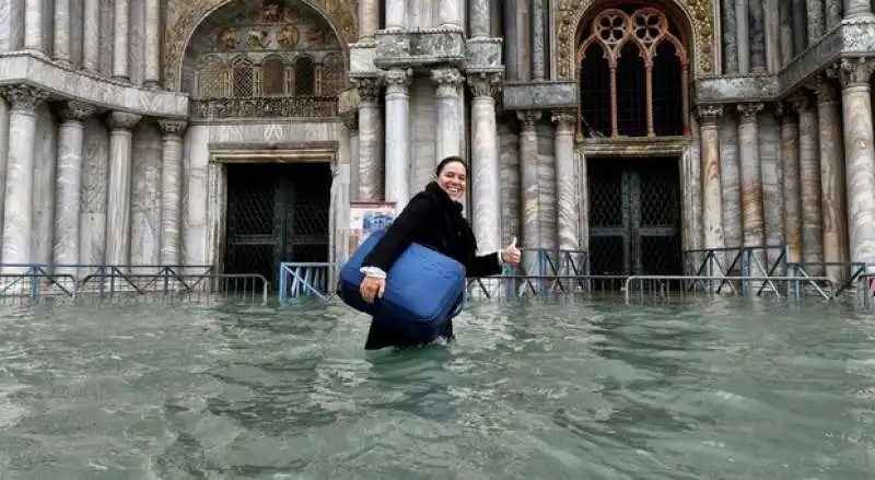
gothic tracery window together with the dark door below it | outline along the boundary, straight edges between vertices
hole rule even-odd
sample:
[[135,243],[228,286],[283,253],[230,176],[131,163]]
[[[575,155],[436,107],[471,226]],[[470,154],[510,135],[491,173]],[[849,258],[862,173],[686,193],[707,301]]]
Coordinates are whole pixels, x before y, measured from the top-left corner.
[[690,133],[684,37],[642,3],[600,10],[581,32],[579,139],[620,147],[586,155],[594,274],[682,273],[680,162],[652,147]]

